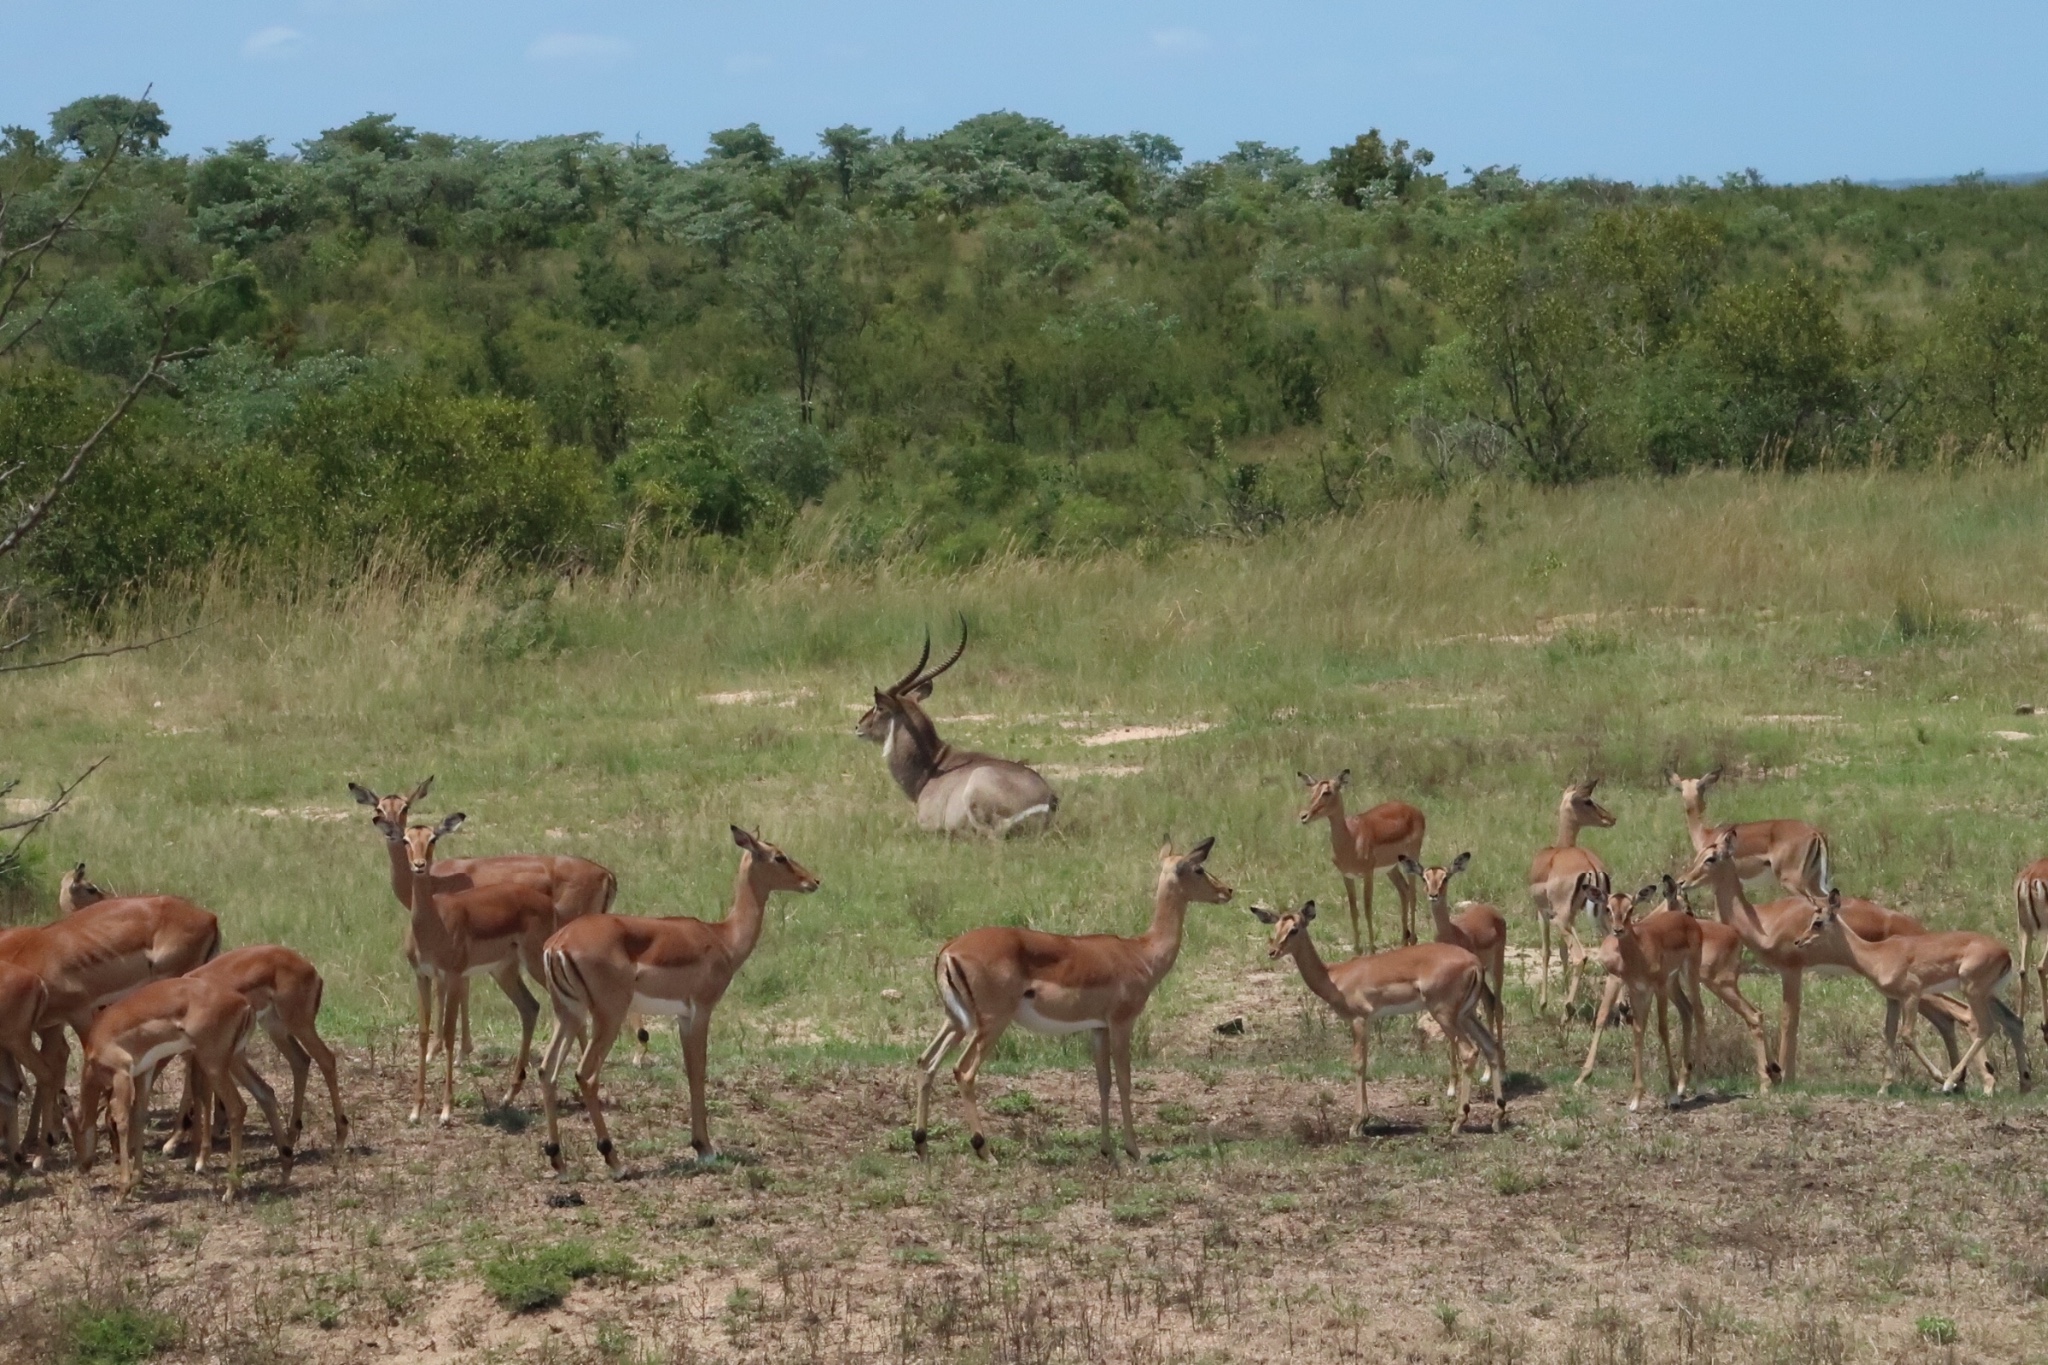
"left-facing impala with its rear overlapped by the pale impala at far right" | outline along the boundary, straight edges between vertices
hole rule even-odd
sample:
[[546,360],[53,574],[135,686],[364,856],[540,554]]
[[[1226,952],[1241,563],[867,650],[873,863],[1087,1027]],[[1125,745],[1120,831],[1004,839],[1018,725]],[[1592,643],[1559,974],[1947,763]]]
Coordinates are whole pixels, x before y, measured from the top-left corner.
[[[1778,972],[1784,1011],[1778,1019],[1778,1066],[1784,1081],[1798,1076],[1798,1017],[1804,995],[1804,974],[1849,974],[1855,964],[1839,943],[1815,939],[1802,943],[1812,927],[1812,902],[1802,898],[1772,900],[1751,905],[1743,894],[1741,876],[1733,857],[1735,833],[1722,831],[1720,839],[1694,855],[1692,866],[1677,880],[1681,888],[1712,886],[1714,907],[1720,923],[1733,927],[1743,945],[1769,970]],[[1927,933],[1917,919],[1886,911],[1870,900],[1841,900],[1841,915],[1866,939],[1915,937]],[[1964,1007],[1946,995],[1927,995],[1919,1001],[1919,1013],[1939,1033],[1954,1062],[1956,1021]]]

